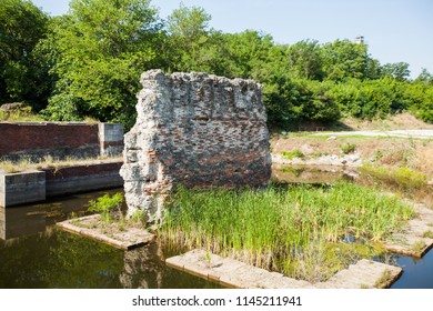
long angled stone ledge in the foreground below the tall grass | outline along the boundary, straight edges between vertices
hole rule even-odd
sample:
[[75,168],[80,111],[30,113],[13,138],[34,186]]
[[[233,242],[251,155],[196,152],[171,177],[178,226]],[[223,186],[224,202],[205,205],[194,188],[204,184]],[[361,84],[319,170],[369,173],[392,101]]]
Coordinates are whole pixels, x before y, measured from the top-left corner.
[[192,250],[165,260],[167,265],[214,281],[228,288],[242,289],[360,289],[387,288],[402,269],[369,260],[361,260],[340,271],[328,282],[312,284],[252,267],[238,260]]

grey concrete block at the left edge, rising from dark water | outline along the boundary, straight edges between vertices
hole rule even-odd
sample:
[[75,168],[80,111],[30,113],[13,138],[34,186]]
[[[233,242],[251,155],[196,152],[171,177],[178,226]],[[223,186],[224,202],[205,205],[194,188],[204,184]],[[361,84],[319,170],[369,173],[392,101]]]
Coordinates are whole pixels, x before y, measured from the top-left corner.
[[0,174],[0,207],[46,200],[46,172]]

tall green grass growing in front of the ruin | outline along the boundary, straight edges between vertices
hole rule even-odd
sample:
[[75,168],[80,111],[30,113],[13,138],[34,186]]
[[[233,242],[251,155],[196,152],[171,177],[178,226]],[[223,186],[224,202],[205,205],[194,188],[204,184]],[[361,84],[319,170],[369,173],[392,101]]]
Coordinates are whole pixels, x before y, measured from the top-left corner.
[[[348,183],[241,191],[179,188],[168,209],[160,234],[169,243],[204,248],[313,282],[374,253],[374,242],[414,214],[395,197]],[[348,243],[346,237],[364,242]]]

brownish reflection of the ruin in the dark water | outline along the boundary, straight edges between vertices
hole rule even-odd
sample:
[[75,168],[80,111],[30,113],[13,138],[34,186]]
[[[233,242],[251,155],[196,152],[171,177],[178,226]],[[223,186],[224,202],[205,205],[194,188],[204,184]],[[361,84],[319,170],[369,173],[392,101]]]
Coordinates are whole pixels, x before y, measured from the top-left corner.
[[119,275],[125,289],[160,289],[164,261],[159,243],[124,252],[124,268]]

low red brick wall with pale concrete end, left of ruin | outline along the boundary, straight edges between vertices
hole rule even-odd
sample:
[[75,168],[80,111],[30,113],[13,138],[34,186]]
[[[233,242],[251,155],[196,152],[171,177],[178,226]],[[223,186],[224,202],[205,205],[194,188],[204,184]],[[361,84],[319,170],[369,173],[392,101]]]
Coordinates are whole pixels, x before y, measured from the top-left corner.
[[121,154],[123,127],[118,123],[0,122],[0,158],[90,158]]

